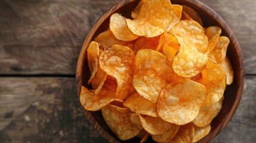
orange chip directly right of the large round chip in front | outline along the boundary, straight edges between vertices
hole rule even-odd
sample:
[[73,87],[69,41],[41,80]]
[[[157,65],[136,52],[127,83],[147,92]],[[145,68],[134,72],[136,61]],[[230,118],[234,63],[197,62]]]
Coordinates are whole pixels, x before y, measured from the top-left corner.
[[202,78],[197,82],[204,85],[207,89],[203,107],[213,105],[221,100],[226,88],[226,77],[221,76],[220,72],[208,69],[202,70]]

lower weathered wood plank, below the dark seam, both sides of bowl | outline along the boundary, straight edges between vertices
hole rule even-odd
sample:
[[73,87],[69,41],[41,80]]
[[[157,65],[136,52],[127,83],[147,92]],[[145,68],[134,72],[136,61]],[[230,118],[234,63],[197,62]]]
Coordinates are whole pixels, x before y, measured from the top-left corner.
[[[256,76],[246,76],[235,116],[212,142],[255,141],[255,93]],[[1,77],[0,111],[1,142],[107,142],[85,119],[73,78]]]

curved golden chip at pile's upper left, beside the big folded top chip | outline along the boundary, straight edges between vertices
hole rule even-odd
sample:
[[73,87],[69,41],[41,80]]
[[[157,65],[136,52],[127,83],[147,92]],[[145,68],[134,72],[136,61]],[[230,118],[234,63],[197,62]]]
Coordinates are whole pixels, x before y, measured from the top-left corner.
[[125,17],[119,13],[112,14],[110,17],[109,28],[115,35],[116,39],[121,41],[133,41],[138,38],[138,36],[131,33],[125,22]]

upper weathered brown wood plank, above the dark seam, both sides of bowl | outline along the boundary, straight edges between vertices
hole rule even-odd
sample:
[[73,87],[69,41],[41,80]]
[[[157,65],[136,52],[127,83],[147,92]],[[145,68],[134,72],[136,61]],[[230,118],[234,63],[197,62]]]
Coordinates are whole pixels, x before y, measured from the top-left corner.
[[[0,0],[0,74],[75,74],[92,24],[121,0]],[[247,74],[256,74],[256,1],[207,1],[239,39]]]

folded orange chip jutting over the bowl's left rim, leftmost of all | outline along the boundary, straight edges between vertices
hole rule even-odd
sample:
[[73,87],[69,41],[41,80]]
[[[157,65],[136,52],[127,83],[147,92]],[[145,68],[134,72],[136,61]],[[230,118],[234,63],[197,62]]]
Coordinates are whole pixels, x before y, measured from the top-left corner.
[[93,91],[82,86],[80,94],[80,102],[86,110],[98,111],[112,101],[120,101],[116,99],[115,90],[116,85],[111,83],[111,80],[103,86],[101,91],[96,95]]

